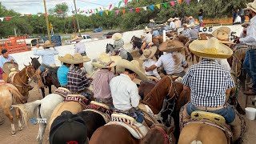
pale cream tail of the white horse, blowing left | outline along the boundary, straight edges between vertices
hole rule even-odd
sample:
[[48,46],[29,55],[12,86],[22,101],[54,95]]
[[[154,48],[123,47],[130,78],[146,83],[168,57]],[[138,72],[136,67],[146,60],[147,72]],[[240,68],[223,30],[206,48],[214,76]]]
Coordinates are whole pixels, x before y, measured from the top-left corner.
[[36,100],[34,102],[29,102],[26,104],[13,105],[13,107],[17,107],[22,112],[22,121],[27,126],[27,122],[29,121],[29,118],[32,118],[36,111],[39,112],[38,109],[41,102],[42,100]]

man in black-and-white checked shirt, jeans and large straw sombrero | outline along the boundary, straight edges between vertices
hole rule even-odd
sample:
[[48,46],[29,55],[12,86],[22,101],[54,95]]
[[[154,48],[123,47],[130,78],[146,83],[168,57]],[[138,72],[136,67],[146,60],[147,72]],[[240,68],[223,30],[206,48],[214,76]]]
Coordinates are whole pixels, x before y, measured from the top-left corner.
[[226,105],[226,97],[234,87],[234,81],[230,72],[215,60],[229,58],[233,51],[219,43],[217,38],[194,41],[190,44],[190,50],[203,59],[202,62],[191,66],[182,79],[183,89],[191,91],[191,102],[181,111],[182,124],[190,121],[190,114],[194,110],[220,114],[230,124],[234,141],[238,140],[242,132],[242,122],[233,107]]

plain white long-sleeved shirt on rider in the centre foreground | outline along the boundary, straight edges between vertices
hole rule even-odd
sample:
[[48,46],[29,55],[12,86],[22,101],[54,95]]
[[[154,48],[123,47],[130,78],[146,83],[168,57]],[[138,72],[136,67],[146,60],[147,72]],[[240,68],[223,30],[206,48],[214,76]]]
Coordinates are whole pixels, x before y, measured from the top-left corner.
[[126,74],[120,74],[111,79],[110,91],[114,108],[118,110],[130,110],[132,107],[137,107],[141,99],[137,85]]

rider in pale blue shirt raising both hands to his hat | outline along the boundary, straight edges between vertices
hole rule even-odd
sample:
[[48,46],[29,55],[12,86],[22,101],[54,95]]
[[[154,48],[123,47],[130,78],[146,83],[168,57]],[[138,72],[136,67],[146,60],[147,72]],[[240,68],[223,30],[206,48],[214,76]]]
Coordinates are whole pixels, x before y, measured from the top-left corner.
[[[44,44],[37,44],[36,47],[43,46],[44,50],[34,50],[34,55],[42,56],[42,65],[38,67],[37,77],[38,77],[38,87],[44,87],[42,82],[41,73],[46,71],[46,67],[55,66],[54,55],[58,54],[58,50],[55,49],[50,41],[46,41]],[[50,50],[50,47],[54,47],[54,50]]]

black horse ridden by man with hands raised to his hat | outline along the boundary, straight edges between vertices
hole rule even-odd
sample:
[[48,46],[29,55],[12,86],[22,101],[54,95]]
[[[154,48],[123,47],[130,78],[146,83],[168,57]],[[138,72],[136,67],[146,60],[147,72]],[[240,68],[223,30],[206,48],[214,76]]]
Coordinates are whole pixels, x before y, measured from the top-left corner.
[[[34,66],[35,70],[38,70],[38,67],[41,66],[40,62],[38,61],[38,58],[31,58],[31,63],[32,63],[32,66]],[[47,71],[47,74],[45,77],[43,76],[44,73],[41,74],[42,82],[44,83],[45,86],[48,87],[49,94],[51,94],[51,85],[54,85],[57,88],[61,86],[60,83],[58,82],[57,70],[58,70],[58,67],[50,68]],[[45,88],[42,87],[40,89],[42,90],[42,98],[45,98],[46,96]]]

